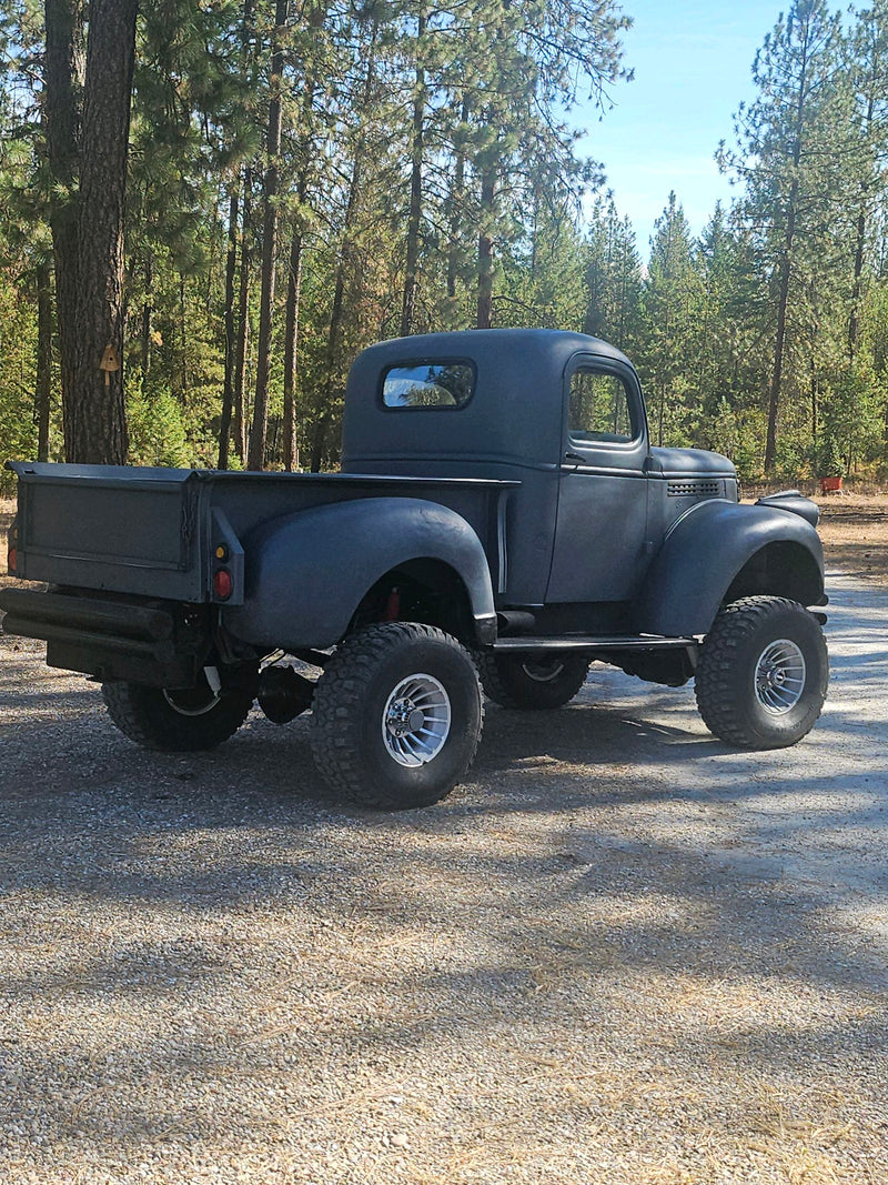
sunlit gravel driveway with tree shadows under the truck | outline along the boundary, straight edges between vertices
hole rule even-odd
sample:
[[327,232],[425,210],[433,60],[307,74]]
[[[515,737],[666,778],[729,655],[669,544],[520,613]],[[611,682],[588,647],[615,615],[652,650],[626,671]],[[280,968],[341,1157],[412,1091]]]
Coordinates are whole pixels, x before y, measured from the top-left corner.
[[0,636],[0,1180],[881,1185],[888,591],[830,591],[798,748],[593,667],[393,816]]

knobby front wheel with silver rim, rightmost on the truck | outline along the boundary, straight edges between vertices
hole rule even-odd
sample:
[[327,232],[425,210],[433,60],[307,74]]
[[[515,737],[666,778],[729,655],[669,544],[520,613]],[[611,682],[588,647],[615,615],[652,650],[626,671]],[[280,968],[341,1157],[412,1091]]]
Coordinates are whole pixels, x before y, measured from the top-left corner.
[[710,732],[745,749],[796,744],[826,698],[823,630],[804,606],[744,597],[715,619],[700,652],[696,699]]

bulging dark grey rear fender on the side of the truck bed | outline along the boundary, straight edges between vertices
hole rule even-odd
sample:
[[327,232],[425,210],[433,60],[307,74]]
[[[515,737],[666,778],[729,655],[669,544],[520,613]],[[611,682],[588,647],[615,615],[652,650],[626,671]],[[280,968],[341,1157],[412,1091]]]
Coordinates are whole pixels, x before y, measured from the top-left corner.
[[480,635],[496,621],[484,549],[462,515],[414,498],[333,502],[264,523],[244,540],[243,606],[224,627],[253,646],[323,649],[345,635],[363,595],[412,559],[452,568]]

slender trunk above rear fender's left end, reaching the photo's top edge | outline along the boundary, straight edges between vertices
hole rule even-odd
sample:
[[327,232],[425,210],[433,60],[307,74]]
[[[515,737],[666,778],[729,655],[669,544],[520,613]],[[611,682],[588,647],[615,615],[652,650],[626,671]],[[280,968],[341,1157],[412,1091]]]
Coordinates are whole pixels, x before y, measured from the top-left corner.
[[275,33],[271,46],[271,81],[269,98],[268,165],[265,168],[265,210],[262,230],[262,294],[259,297],[259,341],[256,351],[256,398],[250,428],[247,469],[265,465],[265,441],[269,427],[269,371],[271,365],[271,321],[275,303],[275,273],[277,270],[277,186],[281,156],[283,108],[281,96],[284,71],[283,32],[287,25],[288,0],[277,0]]

